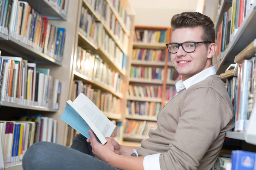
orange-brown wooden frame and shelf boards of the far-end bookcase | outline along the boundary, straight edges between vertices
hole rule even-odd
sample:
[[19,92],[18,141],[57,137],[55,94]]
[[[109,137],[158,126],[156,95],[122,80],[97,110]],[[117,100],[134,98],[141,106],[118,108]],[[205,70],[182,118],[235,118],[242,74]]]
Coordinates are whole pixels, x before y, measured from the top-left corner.
[[[155,54],[157,56],[157,51],[162,51],[161,54],[165,56],[165,58],[161,61],[154,61],[154,59],[152,60],[145,60],[144,59],[138,59],[138,56],[131,56],[131,66],[134,67],[156,67],[156,68],[161,68],[163,71],[161,72],[161,74],[163,74],[163,78],[162,79],[146,79],[146,78],[134,78],[133,76],[131,76],[131,72],[128,72],[128,77],[129,77],[129,84],[133,87],[133,85],[139,85],[139,86],[157,86],[157,87],[161,87],[162,88],[162,92],[161,92],[161,98],[151,98],[151,97],[137,97],[137,96],[128,96],[127,99],[129,102],[148,102],[148,103],[160,103],[160,108],[163,107],[163,105],[166,103],[166,86],[167,85],[175,85],[177,80],[167,80],[167,70],[170,67],[173,67],[172,62],[168,61],[169,60],[169,51],[166,48],[166,44],[170,42],[170,37],[171,37],[171,29],[168,27],[153,27],[153,26],[135,26],[135,30],[149,30],[149,31],[164,31],[166,30],[165,36],[166,38],[164,40],[160,40],[159,41],[154,41],[153,42],[147,42],[147,40],[134,40],[133,43],[133,48],[134,50],[137,49],[143,49],[143,50],[147,50],[147,52],[145,51],[135,51],[133,55],[136,55],[136,53],[147,53],[146,55],[148,55],[148,50],[150,51],[155,51]],[[160,34],[163,34],[163,33]],[[134,38],[138,38],[138,34],[137,32],[134,33]],[[144,34],[144,33],[141,33]],[[159,32],[157,33],[159,34]],[[146,35],[146,34],[145,34]],[[143,36],[143,35],[141,35]],[[143,37],[144,38],[144,37]],[[146,37],[147,38],[147,37]],[[152,39],[151,39],[152,40]],[[163,41],[163,42],[162,42]],[[138,54],[137,54],[138,55]],[[145,54],[143,54],[145,55]],[[145,55],[145,56],[146,56]],[[145,57],[144,56],[144,57]],[[130,67],[131,67],[130,66]],[[146,72],[146,71],[145,71]],[[143,91],[138,89],[138,91]],[[144,94],[143,94],[144,95]],[[136,104],[134,104],[136,105]],[[157,104],[155,104],[157,105]],[[129,106],[126,106],[129,107]],[[135,108],[137,106],[134,106]],[[149,107],[149,106],[148,106]],[[127,108],[127,110],[129,110]],[[155,122],[157,121],[157,117],[156,116],[144,116],[144,115],[131,115],[128,114],[129,111],[126,111],[127,115],[125,116],[126,120],[131,120],[131,121],[149,121],[149,122]],[[125,126],[125,125],[124,125]],[[132,142],[141,142],[143,139],[147,138],[146,136],[138,136],[138,135],[130,135],[130,134],[124,134],[123,136],[124,138],[124,142],[127,141],[132,141]]]

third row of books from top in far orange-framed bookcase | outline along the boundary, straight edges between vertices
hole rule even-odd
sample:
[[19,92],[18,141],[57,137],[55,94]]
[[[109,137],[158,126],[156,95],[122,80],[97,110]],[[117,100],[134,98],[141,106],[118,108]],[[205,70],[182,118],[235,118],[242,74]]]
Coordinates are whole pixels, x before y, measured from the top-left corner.
[[164,69],[160,67],[131,66],[130,77],[163,80]]

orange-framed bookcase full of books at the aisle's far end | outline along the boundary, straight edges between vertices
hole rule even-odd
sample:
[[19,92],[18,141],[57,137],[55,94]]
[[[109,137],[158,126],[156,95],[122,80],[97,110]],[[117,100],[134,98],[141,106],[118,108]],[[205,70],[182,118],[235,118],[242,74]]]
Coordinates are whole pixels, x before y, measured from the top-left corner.
[[[166,49],[170,37],[171,28],[168,27],[135,26],[133,54],[128,73],[124,143],[135,142],[136,145],[136,142],[147,138],[147,130],[142,133],[142,129],[155,126],[155,114],[168,100],[167,86],[174,86],[178,80],[178,77],[175,80],[168,79],[172,74],[175,75],[170,54]],[[168,97],[172,96],[168,94]]]

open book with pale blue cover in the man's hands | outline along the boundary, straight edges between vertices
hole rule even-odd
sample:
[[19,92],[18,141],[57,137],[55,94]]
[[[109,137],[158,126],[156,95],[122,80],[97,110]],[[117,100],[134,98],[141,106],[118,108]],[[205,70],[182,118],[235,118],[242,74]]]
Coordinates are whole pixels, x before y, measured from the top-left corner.
[[61,119],[87,139],[90,139],[88,130],[93,130],[98,141],[102,144],[107,142],[105,137],[110,137],[113,130],[116,128],[116,125],[82,93],[77,96],[74,102],[70,100],[67,101]]

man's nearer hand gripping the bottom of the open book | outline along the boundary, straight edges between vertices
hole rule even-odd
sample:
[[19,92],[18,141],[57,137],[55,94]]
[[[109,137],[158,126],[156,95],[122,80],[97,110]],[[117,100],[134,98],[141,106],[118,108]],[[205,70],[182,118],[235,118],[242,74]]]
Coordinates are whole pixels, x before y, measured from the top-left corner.
[[111,139],[107,139],[108,142],[102,145],[97,141],[96,136],[91,130],[89,130],[89,134],[90,134],[90,140],[87,139],[87,142],[90,142],[90,145],[93,148],[92,150],[93,154],[99,159],[101,159],[102,161],[105,161],[106,163],[109,164],[109,162],[111,161],[111,158],[115,155],[114,147],[111,143]]

